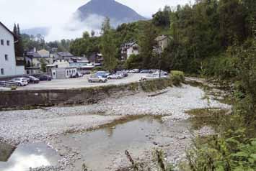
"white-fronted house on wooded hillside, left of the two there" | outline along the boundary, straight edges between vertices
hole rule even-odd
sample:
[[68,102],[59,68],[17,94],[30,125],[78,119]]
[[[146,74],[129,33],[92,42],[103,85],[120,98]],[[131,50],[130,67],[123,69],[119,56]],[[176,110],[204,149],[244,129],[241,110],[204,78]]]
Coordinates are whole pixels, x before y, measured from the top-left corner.
[[139,54],[139,46],[136,42],[125,43],[121,47],[121,60],[128,60],[131,55]]

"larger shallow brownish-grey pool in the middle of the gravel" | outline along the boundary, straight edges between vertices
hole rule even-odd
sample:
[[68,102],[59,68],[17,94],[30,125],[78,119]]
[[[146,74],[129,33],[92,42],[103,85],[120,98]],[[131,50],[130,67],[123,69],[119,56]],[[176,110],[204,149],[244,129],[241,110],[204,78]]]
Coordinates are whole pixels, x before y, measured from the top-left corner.
[[[160,117],[144,116],[111,124],[87,134],[63,136],[61,141],[81,152],[82,159],[74,164],[75,170],[81,170],[83,163],[92,170],[105,170],[118,154],[124,155],[126,149],[133,156],[140,156],[144,149],[155,147],[149,137],[159,134],[159,131],[169,132]],[[166,141],[169,142],[169,138],[166,138]]]

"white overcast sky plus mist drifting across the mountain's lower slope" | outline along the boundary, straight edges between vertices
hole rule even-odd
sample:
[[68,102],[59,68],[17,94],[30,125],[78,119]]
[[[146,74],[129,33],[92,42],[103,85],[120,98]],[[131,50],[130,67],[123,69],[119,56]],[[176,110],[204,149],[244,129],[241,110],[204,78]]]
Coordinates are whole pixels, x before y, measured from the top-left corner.
[[[91,31],[101,25],[103,19],[92,15],[86,21],[79,22],[74,12],[89,0],[0,0],[0,21],[12,29],[19,23],[21,29],[48,27],[50,33],[46,40],[61,40],[81,37],[84,31]],[[104,1],[104,0],[102,0]],[[130,6],[144,17],[151,17],[164,5],[177,6],[188,0],[116,0]],[[193,0],[192,0],[193,1]],[[112,21],[118,22],[118,21]]]

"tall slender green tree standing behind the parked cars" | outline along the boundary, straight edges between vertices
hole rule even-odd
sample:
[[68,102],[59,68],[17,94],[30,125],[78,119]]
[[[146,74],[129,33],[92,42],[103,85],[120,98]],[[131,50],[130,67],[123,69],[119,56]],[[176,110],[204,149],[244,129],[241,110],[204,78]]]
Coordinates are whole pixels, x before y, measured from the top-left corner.
[[104,68],[114,70],[117,66],[118,48],[115,45],[114,31],[110,28],[110,19],[106,18],[102,24],[102,37],[100,40],[100,50],[104,57]]

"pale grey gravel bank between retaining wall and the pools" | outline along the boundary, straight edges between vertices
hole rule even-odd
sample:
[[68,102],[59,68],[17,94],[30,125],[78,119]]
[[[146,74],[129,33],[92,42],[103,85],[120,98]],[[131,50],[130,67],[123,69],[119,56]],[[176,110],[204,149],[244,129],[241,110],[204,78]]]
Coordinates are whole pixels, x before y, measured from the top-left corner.
[[[192,108],[229,108],[211,100],[203,100],[205,93],[197,87],[183,85],[168,88],[167,93],[149,97],[138,93],[123,98],[108,98],[89,106],[52,107],[23,111],[0,112],[0,137],[11,142],[43,139],[70,130],[88,129],[107,124],[116,115],[168,115],[165,119],[187,119],[185,111]],[[105,114],[105,116],[92,114]]]

